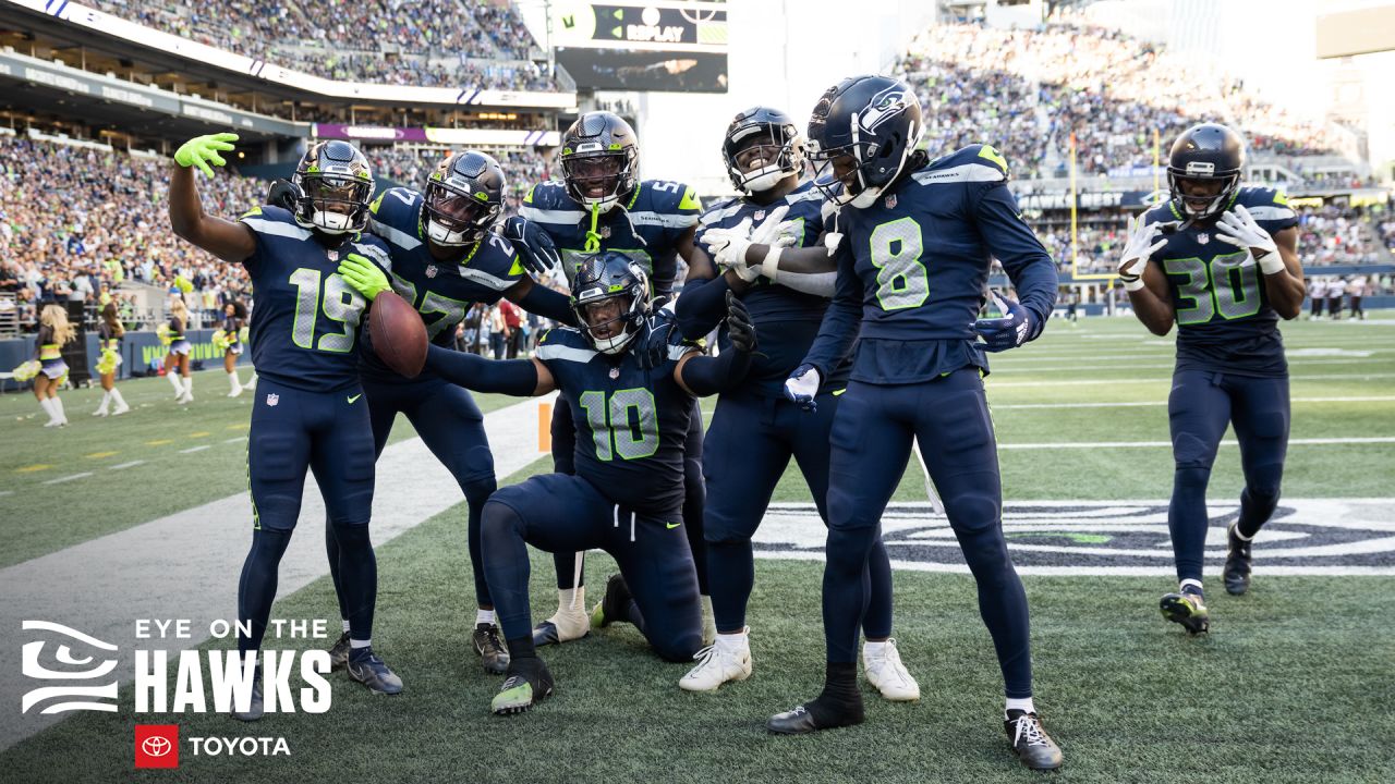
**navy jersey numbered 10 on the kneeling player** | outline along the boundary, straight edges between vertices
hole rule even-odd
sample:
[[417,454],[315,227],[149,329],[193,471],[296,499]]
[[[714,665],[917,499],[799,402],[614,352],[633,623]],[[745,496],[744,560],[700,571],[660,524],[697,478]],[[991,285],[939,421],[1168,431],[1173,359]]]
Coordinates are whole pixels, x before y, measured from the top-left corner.
[[534,354],[572,407],[576,474],[640,513],[678,519],[684,442],[693,396],[674,381],[678,360],[698,350],[668,311],[649,319],[622,354],[603,354],[580,331],[548,331]]

